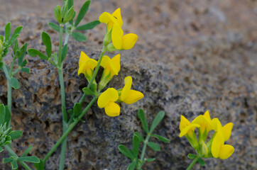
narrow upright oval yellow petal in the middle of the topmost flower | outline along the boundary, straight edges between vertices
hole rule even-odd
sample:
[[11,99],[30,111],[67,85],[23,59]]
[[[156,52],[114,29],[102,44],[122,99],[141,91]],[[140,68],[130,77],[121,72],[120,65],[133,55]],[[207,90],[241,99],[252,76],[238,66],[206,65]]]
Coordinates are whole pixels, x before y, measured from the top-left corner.
[[112,31],[111,31],[111,40],[114,47],[117,50],[121,50],[123,35],[124,35],[123,30],[121,29],[119,24],[114,23],[114,27],[112,28]]

